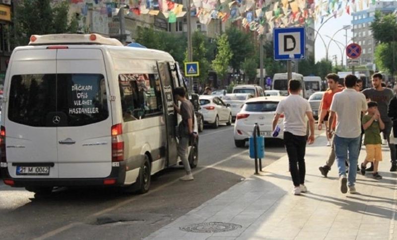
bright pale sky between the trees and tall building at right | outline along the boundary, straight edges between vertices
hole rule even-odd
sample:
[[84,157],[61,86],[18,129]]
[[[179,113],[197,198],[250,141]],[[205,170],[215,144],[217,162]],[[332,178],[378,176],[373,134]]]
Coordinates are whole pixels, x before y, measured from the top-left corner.
[[[325,17],[324,21],[327,18],[328,17]],[[319,35],[321,35],[323,37],[326,45],[328,45],[331,40],[327,36],[332,37],[332,35],[334,33],[336,33],[339,29],[343,28],[343,26],[351,25],[352,19],[353,19],[353,16],[348,15],[346,12],[344,12],[342,16],[332,18],[327,23],[325,23],[323,26],[321,26],[322,24],[321,24],[321,20],[319,18],[318,21],[315,23],[315,28],[319,32]],[[320,28],[320,26],[321,26],[321,28]],[[320,28],[320,30],[319,30],[319,28]],[[343,46],[341,44],[339,44],[339,47],[342,48],[342,51],[343,51],[343,64],[346,63],[345,50],[343,49],[346,45],[345,44],[345,42],[346,42],[345,35],[346,35],[346,31],[342,30],[342,31],[337,32],[333,38],[335,41],[338,41],[341,44],[343,44]],[[351,32],[351,30],[347,30],[347,41],[349,41],[352,38],[352,36],[353,36],[353,33]],[[328,55],[329,55],[330,60],[333,60],[333,55],[336,55],[338,65],[340,65],[341,51],[337,47],[337,45],[334,41],[331,41],[330,48],[328,50]],[[321,59],[326,58],[326,47],[325,47],[323,41],[321,40],[320,36],[317,36],[317,38],[316,38],[315,56],[316,56],[316,61],[320,61]],[[333,60],[333,64],[334,64],[334,60]]]

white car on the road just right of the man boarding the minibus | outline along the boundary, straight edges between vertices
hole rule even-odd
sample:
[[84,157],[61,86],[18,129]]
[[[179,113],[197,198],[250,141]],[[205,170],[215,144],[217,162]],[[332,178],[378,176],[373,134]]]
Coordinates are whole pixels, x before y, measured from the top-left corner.
[[213,95],[201,95],[199,99],[204,124],[211,124],[214,128],[217,128],[220,123],[232,125],[230,104],[224,103],[220,97]]

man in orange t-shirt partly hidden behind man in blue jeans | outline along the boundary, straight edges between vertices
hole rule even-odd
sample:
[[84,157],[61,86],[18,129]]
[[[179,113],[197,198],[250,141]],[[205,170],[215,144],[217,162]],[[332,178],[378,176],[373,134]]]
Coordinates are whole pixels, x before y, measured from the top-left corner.
[[[330,110],[331,103],[332,103],[332,97],[336,94],[341,92],[342,90],[338,87],[338,82],[339,82],[339,76],[330,73],[327,75],[327,82],[328,82],[328,88],[330,89],[329,91],[324,93],[323,99],[321,100],[320,104],[320,118],[319,118],[319,124],[318,128],[321,131],[323,129],[323,120],[324,117],[327,115],[328,111]],[[327,127],[327,126],[326,126]],[[332,130],[334,131],[336,127],[336,121],[333,122],[332,124]],[[332,136],[333,137],[333,136]],[[328,172],[331,170],[331,166],[333,162],[335,161],[335,145],[333,144],[333,139],[331,139],[331,150],[328,155],[328,160],[326,162],[326,165],[323,167],[320,167],[320,172],[324,177],[327,177]]]

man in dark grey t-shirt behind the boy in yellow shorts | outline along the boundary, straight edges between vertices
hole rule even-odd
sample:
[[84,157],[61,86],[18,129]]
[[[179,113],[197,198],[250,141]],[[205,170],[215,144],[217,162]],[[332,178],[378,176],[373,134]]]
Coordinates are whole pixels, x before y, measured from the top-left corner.
[[[388,116],[388,107],[390,100],[394,97],[393,90],[382,87],[382,74],[375,73],[372,75],[372,85],[374,86],[371,89],[365,89],[362,93],[365,95],[367,99],[371,101],[375,101],[378,103],[378,109],[381,114],[381,119],[385,123],[385,129],[382,130],[384,136],[386,137],[389,148],[390,148],[390,157],[392,162],[392,167],[390,168],[391,172],[397,171],[397,156],[396,156],[396,145],[390,144],[390,133],[392,132],[393,122],[392,119]],[[368,169],[367,171],[373,171],[372,169]]]

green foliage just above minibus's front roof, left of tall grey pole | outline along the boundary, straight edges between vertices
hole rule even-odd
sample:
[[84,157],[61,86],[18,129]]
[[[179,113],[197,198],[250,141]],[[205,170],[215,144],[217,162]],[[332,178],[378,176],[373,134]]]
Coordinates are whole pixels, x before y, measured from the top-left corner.
[[153,28],[138,27],[135,42],[146,48],[166,51],[179,63],[185,59],[187,40],[183,35],[173,35],[168,32],[156,31]]

